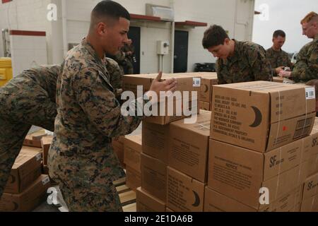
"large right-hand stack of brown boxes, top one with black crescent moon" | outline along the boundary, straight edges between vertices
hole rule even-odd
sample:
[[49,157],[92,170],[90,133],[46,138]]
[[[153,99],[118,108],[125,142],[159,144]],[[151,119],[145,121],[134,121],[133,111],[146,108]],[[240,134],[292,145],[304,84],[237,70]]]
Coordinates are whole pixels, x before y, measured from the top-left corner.
[[216,85],[204,210],[299,211],[314,108],[304,85]]

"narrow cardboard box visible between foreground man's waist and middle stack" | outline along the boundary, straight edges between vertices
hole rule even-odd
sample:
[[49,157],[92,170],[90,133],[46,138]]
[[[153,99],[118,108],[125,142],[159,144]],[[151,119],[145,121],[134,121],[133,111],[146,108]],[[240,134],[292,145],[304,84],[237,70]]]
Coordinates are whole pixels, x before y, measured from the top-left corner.
[[142,151],[141,134],[124,138],[124,164],[126,167],[141,172],[140,154]]

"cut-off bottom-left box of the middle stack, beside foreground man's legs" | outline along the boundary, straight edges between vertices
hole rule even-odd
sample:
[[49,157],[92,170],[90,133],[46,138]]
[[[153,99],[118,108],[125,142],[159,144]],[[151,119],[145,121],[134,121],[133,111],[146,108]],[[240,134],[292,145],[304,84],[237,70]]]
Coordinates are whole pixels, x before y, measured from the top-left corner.
[[165,203],[139,187],[136,191],[137,212],[165,212]]

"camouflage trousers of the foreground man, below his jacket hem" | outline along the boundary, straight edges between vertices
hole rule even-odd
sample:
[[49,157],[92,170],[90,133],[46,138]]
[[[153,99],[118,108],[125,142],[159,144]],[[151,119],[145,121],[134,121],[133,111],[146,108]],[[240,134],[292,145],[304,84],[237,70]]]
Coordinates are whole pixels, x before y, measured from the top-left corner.
[[90,184],[73,184],[71,180],[59,184],[67,208],[71,212],[122,212],[122,204],[114,184],[105,184],[103,188]]

